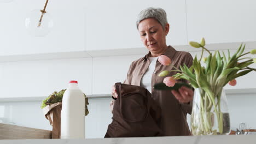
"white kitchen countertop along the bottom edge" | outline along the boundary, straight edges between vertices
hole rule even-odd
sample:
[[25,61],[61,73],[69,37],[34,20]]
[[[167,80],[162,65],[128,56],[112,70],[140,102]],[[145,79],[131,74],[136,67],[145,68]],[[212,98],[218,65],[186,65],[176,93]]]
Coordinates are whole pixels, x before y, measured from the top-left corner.
[[221,135],[221,136],[165,136],[165,137],[130,137],[130,138],[107,138],[107,139],[81,139],[81,140],[0,140],[1,144],[73,144],[73,143],[94,143],[94,144],[155,144],[155,143],[193,143],[193,144],[220,144],[220,143],[255,143],[255,135]]

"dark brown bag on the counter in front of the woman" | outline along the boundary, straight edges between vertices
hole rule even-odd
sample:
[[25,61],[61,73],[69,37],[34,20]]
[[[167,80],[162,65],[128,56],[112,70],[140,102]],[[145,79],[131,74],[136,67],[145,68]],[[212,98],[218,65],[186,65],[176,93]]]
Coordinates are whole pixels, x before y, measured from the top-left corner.
[[144,87],[115,83],[118,99],[105,137],[162,136],[161,109]]

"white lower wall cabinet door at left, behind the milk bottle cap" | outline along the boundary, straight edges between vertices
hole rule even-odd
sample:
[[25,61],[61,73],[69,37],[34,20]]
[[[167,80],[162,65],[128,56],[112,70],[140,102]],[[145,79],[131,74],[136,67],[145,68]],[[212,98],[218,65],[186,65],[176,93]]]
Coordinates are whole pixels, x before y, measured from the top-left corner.
[[91,58],[1,63],[0,98],[47,97],[77,80],[78,87],[91,94]]

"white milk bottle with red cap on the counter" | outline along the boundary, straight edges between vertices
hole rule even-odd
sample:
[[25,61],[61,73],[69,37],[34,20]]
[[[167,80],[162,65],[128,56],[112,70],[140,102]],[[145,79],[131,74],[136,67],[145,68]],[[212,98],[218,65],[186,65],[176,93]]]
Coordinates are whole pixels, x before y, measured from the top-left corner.
[[61,139],[85,139],[85,97],[77,81],[70,81],[63,94]]

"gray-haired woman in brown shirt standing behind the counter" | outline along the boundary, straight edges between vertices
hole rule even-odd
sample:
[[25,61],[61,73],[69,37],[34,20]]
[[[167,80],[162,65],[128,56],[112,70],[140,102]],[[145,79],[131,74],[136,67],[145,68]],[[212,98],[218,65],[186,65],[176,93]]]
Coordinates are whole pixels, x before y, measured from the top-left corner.
[[[147,8],[141,11],[136,22],[141,41],[148,49],[148,54],[133,61],[127,73],[125,84],[143,86],[152,93],[153,99],[161,107],[160,128],[165,136],[190,135],[187,124],[187,113],[191,114],[191,100],[193,90],[181,87],[178,91],[159,91],[153,88],[155,83],[162,82],[164,77],[158,74],[162,70],[171,70],[172,66],[164,66],[158,62],[160,55],[165,55],[172,60],[172,65],[190,67],[193,57],[188,52],[176,51],[172,46],[167,46],[166,35],[170,26],[164,9]],[[172,71],[167,76],[176,74]],[[183,80],[183,82],[187,82]],[[112,95],[117,98],[117,93],[112,87]],[[113,110],[114,100],[110,103]]]

